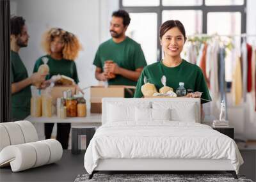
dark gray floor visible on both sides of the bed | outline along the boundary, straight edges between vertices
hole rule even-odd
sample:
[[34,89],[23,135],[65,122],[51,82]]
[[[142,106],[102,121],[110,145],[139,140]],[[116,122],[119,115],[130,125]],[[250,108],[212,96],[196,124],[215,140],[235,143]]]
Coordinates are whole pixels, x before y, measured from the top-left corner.
[[[256,149],[245,148],[240,152],[245,164],[241,166],[239,174],[255,181]],[[64,150],[63,157],[57,163],[22,172],[12,172],[10,167],[0,169],[0,181],[74,181],[78,174],[86,173],[83,162],[84,151],[72,155],[70,150]]]

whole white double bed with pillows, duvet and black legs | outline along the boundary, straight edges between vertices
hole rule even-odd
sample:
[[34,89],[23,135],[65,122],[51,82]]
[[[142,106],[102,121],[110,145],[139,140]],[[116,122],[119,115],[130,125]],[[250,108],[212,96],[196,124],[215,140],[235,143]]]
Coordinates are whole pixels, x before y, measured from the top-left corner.
[[200,124],[198,98],[104,98],[102,126],[84,167],[98,171],[227,171],[243,164],[236,142]]

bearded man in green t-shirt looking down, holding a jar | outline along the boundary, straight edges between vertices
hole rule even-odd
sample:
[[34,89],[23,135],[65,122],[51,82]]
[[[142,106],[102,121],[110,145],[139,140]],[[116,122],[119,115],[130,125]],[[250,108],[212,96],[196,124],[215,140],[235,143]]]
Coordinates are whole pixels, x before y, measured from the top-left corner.
[[110,22],[112,38],[99,46],[93,61],[97,66],[97,80],[108,80],[109,85],[136,86],[147,62],[140,44],[125,36],[130,20],[124,10],[113,12]]

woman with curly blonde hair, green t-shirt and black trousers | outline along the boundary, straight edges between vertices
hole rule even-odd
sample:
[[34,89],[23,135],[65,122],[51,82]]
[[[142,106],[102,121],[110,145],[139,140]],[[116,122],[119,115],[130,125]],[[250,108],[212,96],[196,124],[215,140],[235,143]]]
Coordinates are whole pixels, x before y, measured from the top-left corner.
[[[37,59],[33,72],[38,71],[39,66],[44,64],[42,59],[46,57],[48,59],[49,75],[40,87],[44,89],[49,86],[49,79],[58,74],[74,79],[77,86],[79,79],[74,60],[78,56],[79,50],[81,50],[77,37],[63,29],[52,28],[44,34],[42,40],[43,48],[47,54]],[[54,123],[45,123],[45,139],[51,139],[53,126]],[[70,123],[57,124],[57,140],[60,141],[63,149],[68,148],[69,132]]]

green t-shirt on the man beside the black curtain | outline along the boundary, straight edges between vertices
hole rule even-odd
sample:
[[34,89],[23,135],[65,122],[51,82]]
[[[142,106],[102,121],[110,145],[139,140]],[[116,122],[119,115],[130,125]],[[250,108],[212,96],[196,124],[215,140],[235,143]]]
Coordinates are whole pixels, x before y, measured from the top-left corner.
[[[11,83],[20,82],[28,78],[28,72],[22,63],[17,52],[11,51]],[[12,121],[19,121],[25,119],[30,113],[30,86],[24,87],[17,93],[13,93],[11,117]]]

